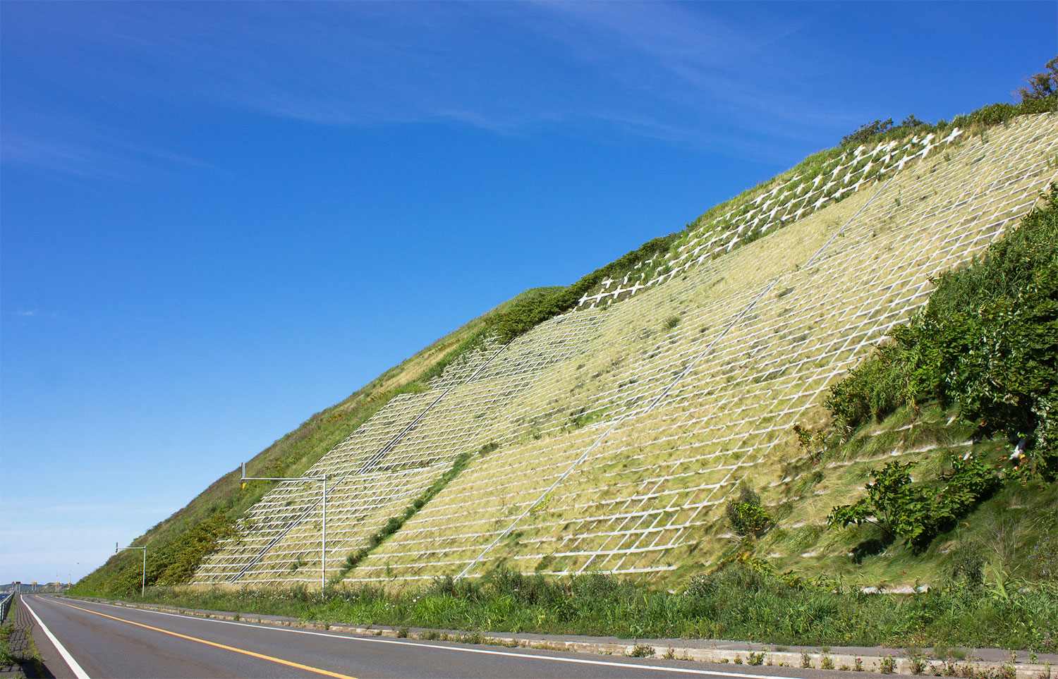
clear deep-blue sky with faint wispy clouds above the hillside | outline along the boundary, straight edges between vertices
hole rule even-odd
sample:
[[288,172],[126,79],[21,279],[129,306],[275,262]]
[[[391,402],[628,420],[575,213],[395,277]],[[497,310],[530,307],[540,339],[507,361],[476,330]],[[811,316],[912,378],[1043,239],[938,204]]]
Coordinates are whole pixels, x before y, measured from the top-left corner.
[[1040,3],[0,5],[0,582],[859,124],[1010,100]]

